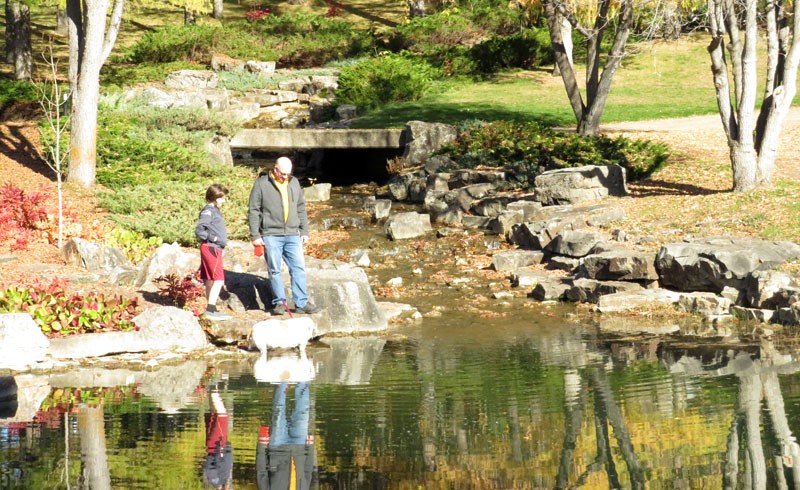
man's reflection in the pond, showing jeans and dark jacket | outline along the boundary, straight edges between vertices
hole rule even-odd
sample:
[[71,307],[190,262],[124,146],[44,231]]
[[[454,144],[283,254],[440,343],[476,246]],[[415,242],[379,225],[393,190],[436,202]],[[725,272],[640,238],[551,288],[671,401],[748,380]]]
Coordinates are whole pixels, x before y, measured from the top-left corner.
[[259,428],[256,446],[259,490],[307,490],[314,480],[314,436],[308,433],[309,383],[294,386],[294,407],[287,419],[289,389],[286,382],[278,385],[272,399],[272,425]]

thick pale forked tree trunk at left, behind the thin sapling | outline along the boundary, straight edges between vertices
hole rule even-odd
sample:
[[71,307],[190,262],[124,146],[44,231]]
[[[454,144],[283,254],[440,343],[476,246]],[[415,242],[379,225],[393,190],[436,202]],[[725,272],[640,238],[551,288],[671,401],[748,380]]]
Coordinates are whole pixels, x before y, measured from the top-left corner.
[[92,187],[95,183],[100,68],[117,39],[124,3],[124,0],[114,0],[106,28],[109,0],[67,0],[72,91],[67,180],[83,187]]

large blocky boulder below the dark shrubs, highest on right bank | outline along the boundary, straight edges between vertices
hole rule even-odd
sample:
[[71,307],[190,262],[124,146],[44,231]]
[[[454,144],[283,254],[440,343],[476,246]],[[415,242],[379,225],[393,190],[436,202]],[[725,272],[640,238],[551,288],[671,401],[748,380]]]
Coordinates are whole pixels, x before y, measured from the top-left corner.
[[576,204],[606,196],[624,196],[625,169],[619,165],[586,165],[548,170],[534,179],[534,199],[544,205]]

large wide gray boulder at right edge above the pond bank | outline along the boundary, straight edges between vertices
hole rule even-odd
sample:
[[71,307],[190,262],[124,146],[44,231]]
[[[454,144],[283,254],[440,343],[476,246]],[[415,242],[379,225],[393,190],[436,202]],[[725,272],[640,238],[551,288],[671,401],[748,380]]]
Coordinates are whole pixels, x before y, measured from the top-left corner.
[[743,289],[751,273],[798,257],[800,246],[792,242],[709,237],[664,245],[656,270],[666,287],[719,293],[725,286]]

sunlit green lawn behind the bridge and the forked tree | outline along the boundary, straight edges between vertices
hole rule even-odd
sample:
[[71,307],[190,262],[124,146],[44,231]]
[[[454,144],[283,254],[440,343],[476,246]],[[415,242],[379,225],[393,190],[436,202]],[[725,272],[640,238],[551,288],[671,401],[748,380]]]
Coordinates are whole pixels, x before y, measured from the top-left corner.
[[[603,122],[715,113],[707,43],[705,36],[697,35],[632,45],[631,54],[614,77]],[[372,111],[358,124],[396,127],[414,119],[512,119],[572,126],[575,117],[564,85],[551,70],[548,66],[538,71],[507,72],[487,81],[450,81],[422,100]]]

